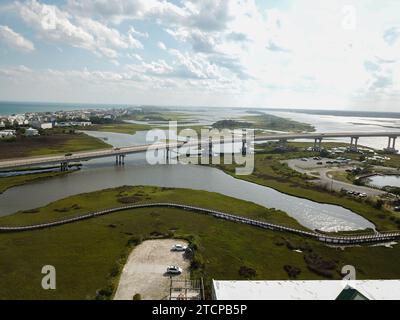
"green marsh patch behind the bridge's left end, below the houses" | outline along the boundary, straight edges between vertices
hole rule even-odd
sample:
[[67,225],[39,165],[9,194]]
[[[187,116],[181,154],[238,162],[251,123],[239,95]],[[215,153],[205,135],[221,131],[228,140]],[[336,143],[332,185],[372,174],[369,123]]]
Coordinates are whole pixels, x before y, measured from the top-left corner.
[[36,137],[19,136],[14,141],[0,141],[0,159],[65,154],[109,147],[104,141],[83,133],[46,131],[45,134]]

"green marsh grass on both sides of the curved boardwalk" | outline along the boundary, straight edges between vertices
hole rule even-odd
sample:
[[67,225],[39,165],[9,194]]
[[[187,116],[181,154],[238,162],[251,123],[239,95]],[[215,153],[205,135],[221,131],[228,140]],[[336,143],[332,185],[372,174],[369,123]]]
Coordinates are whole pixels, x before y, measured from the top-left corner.
[[[193,205],[258,219],[283,219],[284,216],[215,193],[121,187],[60,200],[37,213],[3,217],[0,224],[60,219],[131,201],[162,200],[190,201]],[[180,209],[148,208],[53,229],[0,234],[0,298],[94,299],[96,292],[99,298],[109,298],[130,250],[140,241],[154,237],[185,238],[194,244],[192,276],[203,276],[208,290],[211,279],[282,280],[289,279],[289,274],[297,279],[338,279],[341,267],[348,264],[356,267],[358,279],[400,277],[396,264],[400,258],[398,246],[393,249],[355,247],[342,251],[294,235]],[[44,265],[56,267],[57,290],[41,288]]]

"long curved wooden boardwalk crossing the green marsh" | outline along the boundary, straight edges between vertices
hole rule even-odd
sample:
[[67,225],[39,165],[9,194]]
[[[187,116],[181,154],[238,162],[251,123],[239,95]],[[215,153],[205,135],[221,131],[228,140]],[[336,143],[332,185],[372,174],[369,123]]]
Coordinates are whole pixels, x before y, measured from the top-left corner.
[[213,216],[215,218],[224,219],[228,221],[243,223],[247,225],[251,225],[257,228],[274,230],[274,231],[282,231],[282,232],[290,232],[293,234],[297,234],[303,237],[312,238],[318,240],[320,242],[324,242],[327,244],[335,244],[335,245],[354,245],[354,244],[363,244],[363,243],[383,243],[383,242],[390,242],[394,240],[400,239],[400,232],[385,232],[385,233],[375,233],[375,234],[359,234],[359,235],[342,235],[342,236],[335,236],[335,235],[325,235],[314,231],[304,231],[299,229],[294,229],[290,227],[285,227],[278,224],[253,220],[241,216],[236,216],[228,213],[224,213],[221,211],[216,211],[212,209],[188,206],[184,204],[178,203],[145,203],[145,204],[133,204],[118,208],[112,209],[105,209],[102,211],[97,211],[93,213],[88,213],[82,216],[68,218],[64,220],[42,223],[37,225],[29,225],[29,226],[20,226],[20,227],[0,227],[0,232],[23,232],[23,231],[32,231],[32,230],[39,230],[44,228],[51,228],[56,227],[72,222],[82,221],[86,219],[95,218],[98,216],[103,216],[107,214],[111,214],[114,212],[125,211],[125,210],[132,210],[132,209],[139,209],[139,208],[151,208],[151,207],[167,207],[167,208],[176,208],[176,209],[183,209],[188,211],[199,212],[202,214],[206,214],[209,216]]

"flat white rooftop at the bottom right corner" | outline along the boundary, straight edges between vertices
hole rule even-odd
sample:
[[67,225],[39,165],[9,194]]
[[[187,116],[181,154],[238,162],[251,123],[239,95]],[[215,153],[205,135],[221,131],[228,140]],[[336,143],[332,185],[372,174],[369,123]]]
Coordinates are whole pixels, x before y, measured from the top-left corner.
[[216,300],[335,300],[347,286],[370,300],[400,300],[400,280],[213,280]]

